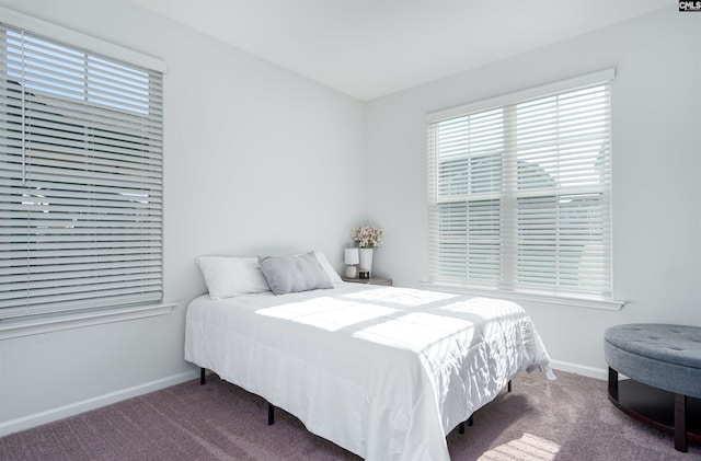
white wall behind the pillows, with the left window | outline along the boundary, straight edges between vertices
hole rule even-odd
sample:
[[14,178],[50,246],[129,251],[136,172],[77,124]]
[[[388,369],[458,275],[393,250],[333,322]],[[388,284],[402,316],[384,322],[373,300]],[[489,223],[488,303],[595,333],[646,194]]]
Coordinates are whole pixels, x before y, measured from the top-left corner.
[[183,360],[199,254],[321,249],[341,269],[363,105],[123,1],[2,0],[164,60],[169,315],[0,341],[0,435],[197,376]]

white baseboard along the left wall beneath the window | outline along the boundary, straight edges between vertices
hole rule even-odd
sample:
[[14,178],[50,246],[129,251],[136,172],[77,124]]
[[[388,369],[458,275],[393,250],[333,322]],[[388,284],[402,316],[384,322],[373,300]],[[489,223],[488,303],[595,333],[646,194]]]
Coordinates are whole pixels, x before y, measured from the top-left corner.
[[111,405],[123,400],[148,394],[149,392],[180,384],[182,382],[189,381],[196,378],[199,378],[199,370],[186,371],[183,373],[170,376],[168,378],[147,382],[145,384],[139,384],[133,388],[111,392],[108,394],[100,395],[93,399],[88,399],[81,402],[71,403],[69,405],[59,406],[58,408],[35,413],[33,415],[23,416],[16,419],[10,419],[8,422],[0,423],[0,437],[7,436],[12,433],[18,433],[20,430],[30,429],[32,427],[41,426],[43,424],[51,423],[58,419],[64,419],[79,413],[89,412],[91,410]]

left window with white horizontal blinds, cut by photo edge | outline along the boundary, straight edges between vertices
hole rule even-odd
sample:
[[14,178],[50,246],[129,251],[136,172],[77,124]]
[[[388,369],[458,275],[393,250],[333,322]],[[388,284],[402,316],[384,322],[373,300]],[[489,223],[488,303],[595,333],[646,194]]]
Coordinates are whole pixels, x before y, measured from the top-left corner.
[[0,24],[0,319],[162,298],[162,73]]

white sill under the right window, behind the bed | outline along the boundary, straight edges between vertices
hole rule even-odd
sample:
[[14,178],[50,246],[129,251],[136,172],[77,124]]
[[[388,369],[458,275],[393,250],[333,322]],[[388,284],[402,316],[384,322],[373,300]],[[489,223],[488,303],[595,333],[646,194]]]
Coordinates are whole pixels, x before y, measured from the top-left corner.
[[590,298],[564,297],[564,296],[531,293],[531,292],[490,290],[490,289],[461,287],[458,285],[429,284],[426,281],[422,283],[421,286],[422,288],[425,288],[427,290],[439,290],[439,291],[448,291],[448,292],[456,292],[456,293],[462,293],[462,295],[484,296],[490,298],[506,299],[509,301],[532,301],[532,302],[541,302],[541,303],[548,303],[548,304],[570,306],[575,308],[602,309],[607,311],[620,311],[625,304],[625,301],[617,301],[612,299],[611,300],[590,299]]

